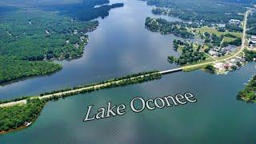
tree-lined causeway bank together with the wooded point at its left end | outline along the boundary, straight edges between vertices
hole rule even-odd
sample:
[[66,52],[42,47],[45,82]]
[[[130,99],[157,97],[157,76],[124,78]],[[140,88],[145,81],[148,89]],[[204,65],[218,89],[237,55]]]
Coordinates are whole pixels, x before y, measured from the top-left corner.
[[158,71],[142,72],[138,74],[130,74],[120,78],[114,78],[85,86],[76,86],[72,89],[55,90],[49,93],[40,94],[37,97],[15,98],[6,102],[17,102],[26,99],[26,104],[18,104],[15,106],[0,106],[0,134],[8,131],[18,130],[26,127],[26,122],[32,122],[40,114],[43,106],[50,100],[57,100],[74,94],[85,94],[95,90],[102,90],[117,86],[126,86],[130,84],[148,82],[162,78],[162,74]]

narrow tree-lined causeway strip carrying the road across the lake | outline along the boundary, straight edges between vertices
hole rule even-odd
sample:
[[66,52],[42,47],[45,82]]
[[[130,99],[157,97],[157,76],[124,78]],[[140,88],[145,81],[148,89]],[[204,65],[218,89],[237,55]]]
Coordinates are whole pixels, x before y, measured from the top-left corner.
[[8,106],[15,106],[19,104],[26,104],[27,99],[35,99],[39,98],[41,99],[56,99],[56,98],[63,98],[67,97],[70,95],[74,94],[81,94],[81,93],[88,93],[92,92],[94,90],[101,90],[101,89],[108,89],[112,87],[118,87],[118,86],[126,86],[130,84],[135,84],[135,83],[140,83],[140,82],[147,82],[147,81],[152,81],[155,79],[162,78],[162,74],[169,74],[169,73],[174,73],[178,72],[181,70],[166,70],[166,71],[147,71],[147,72],[141,72],[138,74],[130,74],[126,75],[121,78],[112,78],[110,80],[102,81],[102,82],[97,82],[97,83],[91,83],[87,84],[84,86],[74,86],[73,88],[66,88],[62,90],[54,90],[50,92],[46,92],[43,94],[39,94],[37,96],[31,96],[31,97],[21,97],[21,98],[16,98],[13,100],[9,100],[7,102],[3,101],[0,103],[0,108],[1,107],[8,107]]

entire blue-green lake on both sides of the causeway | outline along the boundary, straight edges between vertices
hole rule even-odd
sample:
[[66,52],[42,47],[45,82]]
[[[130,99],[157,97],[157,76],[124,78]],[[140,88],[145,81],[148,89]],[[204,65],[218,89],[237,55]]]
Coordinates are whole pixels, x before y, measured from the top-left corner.
[[[146,17],[178,18],[151,14],[152,6],[138,0],[113,0],[125,6],[110,10],[99,18],[97,30],[82,58],[62,61],[63,70],[44,77],[28,78],[0,87],[0,99],[41,94],[66,86],[133,74],[143,70],[177,67],[167,62],[174,35],[146,30]],[[0,143],[216,143],[255,142],[256,105],[238,101],[236,95],[255,74],[255,64],[227,75],[202,70],[167,74],[160,80],[131,86],[78,94],[48,102],[38,119],[28,128],[0,135]],[[87,106],[115,105],[135,97],[194,94],[198,102],[135,114],[127,109],[123,116],[83,122]]]

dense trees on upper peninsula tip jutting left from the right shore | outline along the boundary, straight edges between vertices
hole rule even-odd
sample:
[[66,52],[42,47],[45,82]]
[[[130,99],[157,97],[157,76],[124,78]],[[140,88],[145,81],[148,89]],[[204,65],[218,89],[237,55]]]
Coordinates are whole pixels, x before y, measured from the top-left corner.
[[154,32],[161,34],[174,34],[181,38],[194,38],[194,34],[187,30],[184,22],[168,22],[163,18],[146,18],[145,26]]

